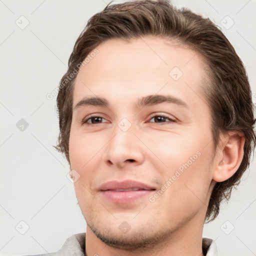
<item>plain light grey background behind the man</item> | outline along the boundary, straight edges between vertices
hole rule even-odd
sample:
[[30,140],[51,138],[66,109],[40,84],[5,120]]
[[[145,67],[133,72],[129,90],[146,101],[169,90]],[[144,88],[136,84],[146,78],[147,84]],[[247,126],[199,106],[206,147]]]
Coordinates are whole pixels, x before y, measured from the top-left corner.
[[[221,27],[247,68],[255,102],[256,1],[173,2]],[[46,94],[67,69],[73,44],[88,18],[107,3],[0,0],[1,255],[54,252],[70,235],[85,231],[73,183],[66,177],[69,166],[52,147],[58,135],[56,96],[48,100]],[[26,19],[29,24],[21,29]],[[23,131],[16,127],[21,118],[29,125]],[[204,227],[203,235],[216,240],[220,256],[256,255],[255,191],[254,161],[218,218]],[[26,225],[29,229],[20,234]]]

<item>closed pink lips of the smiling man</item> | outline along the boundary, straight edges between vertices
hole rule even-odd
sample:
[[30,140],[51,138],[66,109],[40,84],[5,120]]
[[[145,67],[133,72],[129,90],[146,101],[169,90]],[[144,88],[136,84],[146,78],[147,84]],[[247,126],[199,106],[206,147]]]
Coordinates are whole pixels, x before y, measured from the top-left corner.
[[[116,189],[138,189],[133,191],[114,191]],[[155,191],[155,187],[140,181],[126,179],[123,181],[110,180],[99,186],[102,196],[117,204],[130,203]]]

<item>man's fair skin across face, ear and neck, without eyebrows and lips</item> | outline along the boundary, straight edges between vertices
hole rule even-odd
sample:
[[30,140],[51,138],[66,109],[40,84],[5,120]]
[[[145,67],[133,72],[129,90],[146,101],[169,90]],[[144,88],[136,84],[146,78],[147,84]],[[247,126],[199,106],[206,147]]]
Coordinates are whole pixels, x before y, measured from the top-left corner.
[[[200,91],[206,74],[193,50],[152,36],[111,39],[97,49],[77,74],[73,107],[85,96],[103,97],[109,106],[75,108],[69,138],[70,169],[80,175],[74,188],[87,223],[86,255],[202,255],[210,193],[216,181],[237,170],[243,135],[221,134],[213,158],[210,109]],[[173,67],[183,73],[178,80],[169,75]],[[162,102],[134,108],[138,98],[153,94],[172,95],[187,107]],[[82,124],[92,113],[102,118]],[[174,122],[153,118],[161,114]],[[118,126],[122,118],[131,124],[126,131]],[[153,202],[146,196],[115,204],[97,190],[113,179],[161,189],[198,151],[200,156]],[[123,221],[130,226],[126,233],[118,228]]]

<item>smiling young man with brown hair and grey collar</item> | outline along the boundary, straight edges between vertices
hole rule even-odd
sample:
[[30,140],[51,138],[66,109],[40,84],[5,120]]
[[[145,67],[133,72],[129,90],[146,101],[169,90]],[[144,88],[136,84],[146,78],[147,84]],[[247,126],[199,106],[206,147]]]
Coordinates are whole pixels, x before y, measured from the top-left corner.
[[108,4],[75,42],[57,107],[87,228],[51,255],[217,255],[203,224],[256,138],[246,71],[209,19]]

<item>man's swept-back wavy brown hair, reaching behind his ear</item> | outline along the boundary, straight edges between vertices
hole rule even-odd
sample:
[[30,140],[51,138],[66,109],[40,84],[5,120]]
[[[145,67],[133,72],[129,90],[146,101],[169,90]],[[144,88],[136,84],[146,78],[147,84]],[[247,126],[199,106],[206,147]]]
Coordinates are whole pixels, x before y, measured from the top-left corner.
[[60,132],[55,148],[65,154],[70,164],[68,142],[76,78],[75,74],[70,79],[70,74],[74,74],[79,63],[97,45],[112,38],[127,41],[146,35],[169,38],[186,45],[199,53],[207,66],[210,86],[202,90],[211,109],[214,149],[218,145],[220,132],[241,131],[245,137],[239,168],[227,180],[217,182],[212,190],[205,216],[209,222],[218,215],[222,199],[229,199],[232,187],[240,182],[255,147],[253,103],[243,63],[213,22],[187,8],[177,9],[168,0],[110,3],[88,20],[68,59],[68,70],[60,80],[57,95]]

